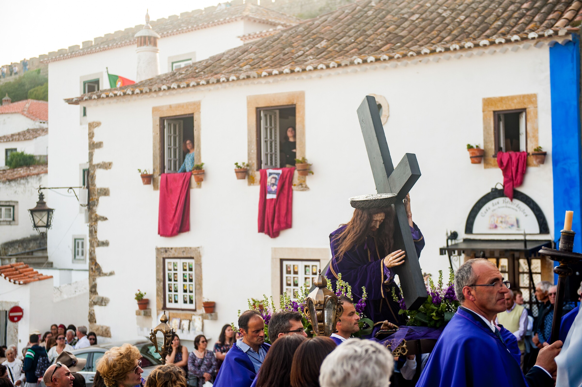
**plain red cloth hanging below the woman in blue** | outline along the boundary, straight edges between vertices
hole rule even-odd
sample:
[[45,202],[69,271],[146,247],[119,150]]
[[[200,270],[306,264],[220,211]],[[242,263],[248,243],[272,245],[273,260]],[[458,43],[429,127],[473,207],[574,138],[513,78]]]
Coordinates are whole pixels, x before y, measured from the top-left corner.
[[158,234],[175,236],[190,231],[190,172],[159,177]]

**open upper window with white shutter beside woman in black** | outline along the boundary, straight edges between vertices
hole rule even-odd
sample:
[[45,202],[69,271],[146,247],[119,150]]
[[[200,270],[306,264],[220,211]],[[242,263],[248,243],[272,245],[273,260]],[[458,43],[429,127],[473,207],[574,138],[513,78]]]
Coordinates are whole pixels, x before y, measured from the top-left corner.
[[289,145],[290,127],[295,131],[295,105],[257,108],[257,169],[294,164],[296,146]]

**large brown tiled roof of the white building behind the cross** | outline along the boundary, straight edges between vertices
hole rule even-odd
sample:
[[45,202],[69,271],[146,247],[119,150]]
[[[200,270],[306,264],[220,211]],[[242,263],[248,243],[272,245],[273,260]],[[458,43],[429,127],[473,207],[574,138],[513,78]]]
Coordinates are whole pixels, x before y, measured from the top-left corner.
[[65,101],[536,40],[581,20],[581,0],[360,0],[171,73]]

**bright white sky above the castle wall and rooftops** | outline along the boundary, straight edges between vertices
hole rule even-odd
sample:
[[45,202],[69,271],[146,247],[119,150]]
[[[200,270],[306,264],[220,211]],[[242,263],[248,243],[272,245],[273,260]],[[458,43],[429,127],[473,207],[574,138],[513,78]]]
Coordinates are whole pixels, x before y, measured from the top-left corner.
[[0,0],[0,65],[227,0]]

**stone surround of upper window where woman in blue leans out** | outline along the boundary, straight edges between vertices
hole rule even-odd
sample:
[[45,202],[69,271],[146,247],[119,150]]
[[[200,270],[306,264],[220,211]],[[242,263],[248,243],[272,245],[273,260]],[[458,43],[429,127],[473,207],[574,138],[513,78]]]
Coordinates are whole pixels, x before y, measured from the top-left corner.
[[[162,119],[186,116],[193,114],[194,116],[194,163],[200,164],[202,155],[200,154],[200,101],[172,103],[170,105],[154,106],[151,108],[152,114],[152,135],[153,135],[153,155],[152,155],[152,173],[154,174],[153,185],[154,190],[159,190],[159,176],[161,171],[161,160],[164,149],[161,148],[162,137],[164,135]],[[202,183],[194,182],[194,178],[190,178],[190,188],[200,188]]]

